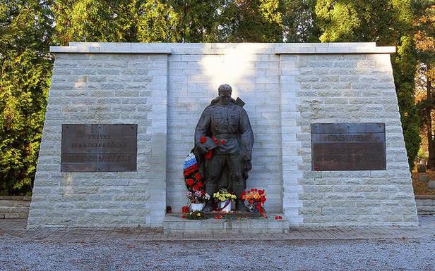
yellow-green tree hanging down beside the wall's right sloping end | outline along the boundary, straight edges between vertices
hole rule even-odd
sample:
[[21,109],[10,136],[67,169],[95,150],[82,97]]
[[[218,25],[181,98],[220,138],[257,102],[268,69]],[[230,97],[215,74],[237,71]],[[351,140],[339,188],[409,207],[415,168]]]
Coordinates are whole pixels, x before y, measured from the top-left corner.
[[397,53],[392,56],[393,75],[412,168],[420,138],[414,83],[417,53],[410,0],[318,0],[316,16],[323,31],[322,42],[377,42],[397,46]]

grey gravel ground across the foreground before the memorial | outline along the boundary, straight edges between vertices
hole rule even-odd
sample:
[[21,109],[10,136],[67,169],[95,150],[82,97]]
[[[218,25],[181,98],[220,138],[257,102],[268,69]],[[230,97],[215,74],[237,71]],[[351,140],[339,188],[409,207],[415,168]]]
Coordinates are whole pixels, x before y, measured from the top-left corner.
[[3,236],[0,270],[435,270],[435,237],[64,244]]

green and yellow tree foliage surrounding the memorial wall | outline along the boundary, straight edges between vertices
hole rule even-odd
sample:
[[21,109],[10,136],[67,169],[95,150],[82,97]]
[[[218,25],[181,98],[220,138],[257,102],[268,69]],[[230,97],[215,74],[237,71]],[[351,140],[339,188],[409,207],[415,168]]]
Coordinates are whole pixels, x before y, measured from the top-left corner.
[[[68,42],[377,42],[395,45],[410,163],[433,95],[433,0],[4,0],[0,2],[0,194],[30,192],[52,56]],[[418,65],[417,65],[418,64]],[[417,69],[418,68],[418,69]],[[427,80],[429,79],[429,81]],[[433,84],[429,89],[433,89]],[[429,113],[430,115],[430,113]],[[430,118],[429,118],[430,119]]]

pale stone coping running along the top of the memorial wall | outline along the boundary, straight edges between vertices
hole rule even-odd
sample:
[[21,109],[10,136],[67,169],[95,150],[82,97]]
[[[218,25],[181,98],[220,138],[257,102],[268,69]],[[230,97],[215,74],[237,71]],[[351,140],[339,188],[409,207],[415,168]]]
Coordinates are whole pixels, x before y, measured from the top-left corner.
[[229,49],[251,50],[253,54],[395,53],[394,46],[376,46],[375,42],[309,44],[70,42],[69,46],[50,46],[52,53],[225,54]]

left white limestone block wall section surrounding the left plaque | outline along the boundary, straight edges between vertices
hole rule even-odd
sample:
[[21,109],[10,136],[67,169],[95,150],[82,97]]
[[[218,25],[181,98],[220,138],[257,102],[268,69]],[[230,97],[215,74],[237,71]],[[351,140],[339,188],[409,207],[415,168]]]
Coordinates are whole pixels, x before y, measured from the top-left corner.
[[[28,227],[160,226],[166,101],[166,53],[56,53]],[[137,171],[61,172],[66,123],[137,124]]]

